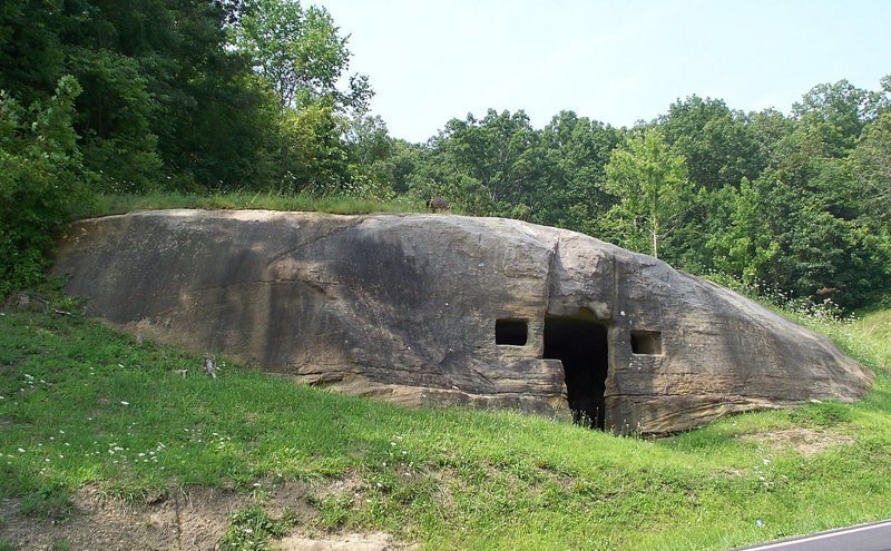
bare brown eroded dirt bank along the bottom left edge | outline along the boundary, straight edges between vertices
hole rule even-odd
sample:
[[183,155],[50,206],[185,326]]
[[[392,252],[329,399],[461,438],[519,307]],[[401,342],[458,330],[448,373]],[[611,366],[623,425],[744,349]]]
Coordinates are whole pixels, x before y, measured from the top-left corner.
[[[407,549],[394,544],[388,534],[324,534],[315,525],[313,495],[361,492],[360,480],[329,482],[310,488],[302,482],[263,483],[261,502],[273,516],[295,514],[297,525],[290,538],[274,545],[282,550],[336,551]],[[26,550],[216,550],[228,519],[235,511],[256,501],[252,494],[229,490],[172,489],[147,502],[128,502],[85,486],[74,496],[71,518],[51,521],[22,515],[19,500],[0,501],[0,540],[13,549]]]

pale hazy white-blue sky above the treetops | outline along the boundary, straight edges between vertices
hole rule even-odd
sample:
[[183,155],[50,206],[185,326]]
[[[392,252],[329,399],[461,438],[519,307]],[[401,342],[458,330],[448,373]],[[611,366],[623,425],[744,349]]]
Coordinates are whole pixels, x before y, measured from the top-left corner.
[[814,85],[878,89],[891,73],[887,0],[304,0],[350,35],[392,136],[424,141],[454,117],[569,109],[615,126],[677,98],[784,112]]

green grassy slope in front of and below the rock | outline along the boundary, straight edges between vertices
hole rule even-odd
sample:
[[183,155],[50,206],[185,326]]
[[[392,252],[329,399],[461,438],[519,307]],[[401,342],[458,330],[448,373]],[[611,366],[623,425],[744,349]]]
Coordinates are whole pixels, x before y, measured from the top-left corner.
[[[878,372],[860,403],[647,441],[512,412],[407,410],[223,358],[214,380],[198,355],[78,316],[7,311],[0,498],[61,519],[85,484],[150,501],[300,480],[317,490],[317,530],[380,530],[424,550],[723,550],[878,520],[891,516],[889,321],[810,322]],[[791,429],[846,444],[805,455],[760,436]],[[347,490],[332,492],[335,481]],[[281,522],[247,508],[225,543],[249,549],[247,534],[282,533]]]

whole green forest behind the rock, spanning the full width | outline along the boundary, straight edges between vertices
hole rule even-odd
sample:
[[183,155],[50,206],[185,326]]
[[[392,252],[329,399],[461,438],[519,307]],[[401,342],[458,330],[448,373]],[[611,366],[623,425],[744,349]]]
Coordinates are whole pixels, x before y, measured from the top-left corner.
[[0,296],[41,281],[97,197],[256,190],[438,197],[790,299],[891,302],[891,75],[816,83],[787,115],[695,95],[631,128],[490,109],[412,144],[350,60],[297,1],[4,0]]

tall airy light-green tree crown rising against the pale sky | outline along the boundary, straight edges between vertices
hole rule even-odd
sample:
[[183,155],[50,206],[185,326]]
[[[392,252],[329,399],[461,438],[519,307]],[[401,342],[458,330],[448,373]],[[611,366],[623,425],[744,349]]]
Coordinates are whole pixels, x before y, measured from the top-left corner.
[[349,89],[337,89],[350,63],[347,37],[337,30],[324,8],[304,10],[297,0],[251,0],[234,38],[275,90],[282,109],[301,109],[324,99],[335,111],[363,111],[372,95],[368,77],[352,75]]

